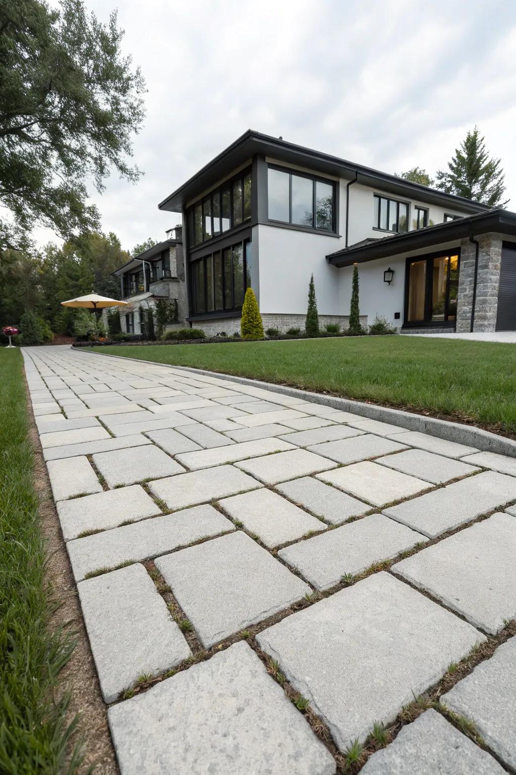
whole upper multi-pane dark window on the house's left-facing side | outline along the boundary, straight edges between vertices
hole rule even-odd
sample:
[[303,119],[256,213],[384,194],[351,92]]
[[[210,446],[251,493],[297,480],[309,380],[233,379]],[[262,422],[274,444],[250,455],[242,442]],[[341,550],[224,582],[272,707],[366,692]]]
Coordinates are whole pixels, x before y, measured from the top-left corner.
[[251,219],[251,170],[239,173],[196,202],[187,217],[193,246]]

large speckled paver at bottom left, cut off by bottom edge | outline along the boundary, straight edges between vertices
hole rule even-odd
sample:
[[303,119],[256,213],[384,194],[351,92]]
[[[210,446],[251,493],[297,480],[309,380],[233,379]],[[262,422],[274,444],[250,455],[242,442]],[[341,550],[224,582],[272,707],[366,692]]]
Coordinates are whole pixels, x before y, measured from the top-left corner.
[[121,775],[333,775],[335,761],[247,643],[108,711]]

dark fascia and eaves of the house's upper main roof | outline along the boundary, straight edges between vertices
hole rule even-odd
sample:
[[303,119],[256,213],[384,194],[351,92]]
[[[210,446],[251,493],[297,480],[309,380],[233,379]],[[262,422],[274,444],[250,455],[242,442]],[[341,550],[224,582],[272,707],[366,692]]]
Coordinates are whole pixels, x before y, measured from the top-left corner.
[[345,159],[330,156],[328,153],[287,143],[285,140],[263,135],[253,129],[244,132],[234,143],[227,146],[222,153],[219,153],[193,177],[190,177],[186,183],[176,188],[176,191],[173,191],[159,203],[158,208],[170,212],[181,212],[186,202],[196,198],[202,191],[213,188],[224,177],[231,175],[231,172],[237,167],[254,157],[256,153],[272,156],[285,164],[308,167],[319,174],[326,173],[351,179],[357,173],[360,183],[377,186],[381,191],[421,200],[423,203],[446,206],[451,210],[474,213],[485,212],[488,209],[485,205],[480,205],[470,199],[445,194],[444,191],[437,191],[435,188],[405,181],[402,177],[374,170],[371,167],[364,167],[361,164],[354,164]]

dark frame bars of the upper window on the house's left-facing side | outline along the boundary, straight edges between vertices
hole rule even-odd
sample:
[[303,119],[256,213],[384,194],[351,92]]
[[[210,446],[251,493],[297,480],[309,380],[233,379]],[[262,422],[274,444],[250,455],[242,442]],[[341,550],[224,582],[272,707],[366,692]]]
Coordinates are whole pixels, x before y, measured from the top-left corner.
[[[249,215],[245,216],[244,211],[244,187],[245,187],[245,180],[247,177],[251,178],[251,207],[249,208]],[[234,220],[234,185],[240,183],[241,187],[241,220],[239,222],[235,222]],[[225,191],[229,190],[229,198],[230,198],[230,226],[229,229],[226,229],[224,231],[223,229],[223,198],[222,195]],[[200,246],[206,245],[213,239],[218,239],[221,236],[226,236],[229,232],[233,231],[233,229],[241,229],[242,226],[248,226],[248,223],[251,222],[251,212],[252,212],[252,191],[253,191],[253,184],[252,184],[252,167],[244,167],[243,170],[238,172],[237,174],[233,175],[232,177],[228,177],[227,180],[225,180],[223,183],[220,183],[216,188],[212,189],[212,191],[209,191],[206,195],[196,199],[195,202],[192,202],[191,205],[186,208],[186,221],[188,224],[188,236],[190,239],[190,250],[196,250],[196,248],[199,248]],[[215,216],[215,219],[218,218],[219,224],[220,224],[220,231],[215,233],[214,232],[214,199],[218,198],[219,202],[219,215]],[[210,235],[207,235],[207,229],[206,229],[206,222],[205,218],[207,218],[207,215],[204,215],[204,205],[209,203],[210,205]],[[195,211],[196,208],[201,208],[201,239],[199,242],[196,242],[196,221],[195,221]]]

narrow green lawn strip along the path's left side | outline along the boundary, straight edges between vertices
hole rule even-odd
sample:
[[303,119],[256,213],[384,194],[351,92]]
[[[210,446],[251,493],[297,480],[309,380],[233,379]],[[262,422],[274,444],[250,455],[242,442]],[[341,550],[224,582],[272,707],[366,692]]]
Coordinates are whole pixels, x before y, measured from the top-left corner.
[[22,354],[0,348],[0,772],[72,773],[67,698],[53,701],[73,644],[48,623],[45,546],[33,487],[34,460]]

